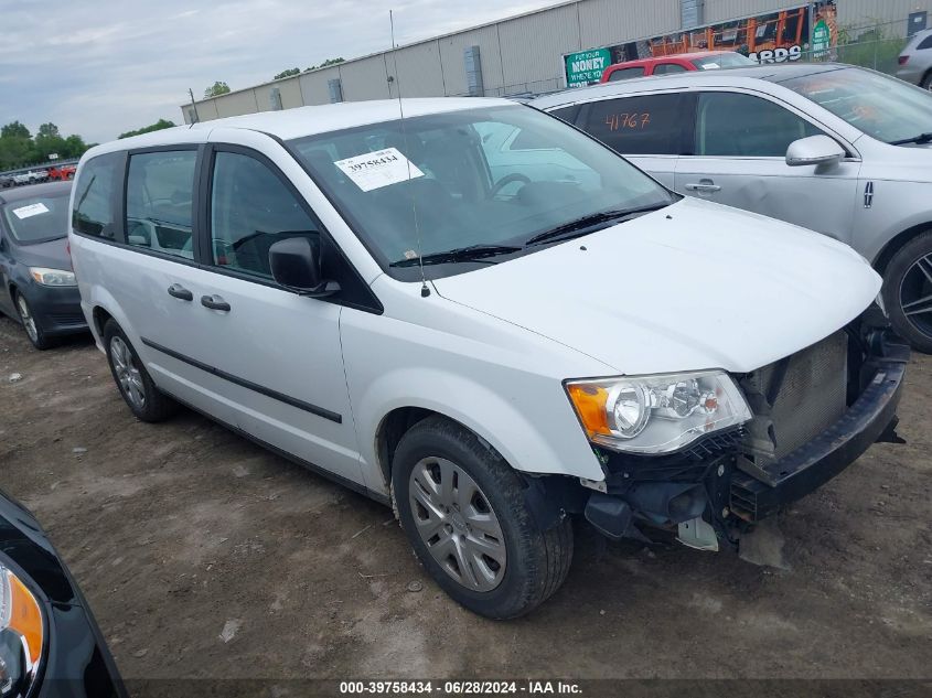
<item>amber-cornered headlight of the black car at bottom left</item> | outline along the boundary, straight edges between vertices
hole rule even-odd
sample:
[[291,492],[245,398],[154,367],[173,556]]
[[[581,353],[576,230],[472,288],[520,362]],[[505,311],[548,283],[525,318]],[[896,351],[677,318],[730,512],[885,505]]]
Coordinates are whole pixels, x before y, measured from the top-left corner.
[[42,609],[0,562],[0,697],[25,696],[42,658]]

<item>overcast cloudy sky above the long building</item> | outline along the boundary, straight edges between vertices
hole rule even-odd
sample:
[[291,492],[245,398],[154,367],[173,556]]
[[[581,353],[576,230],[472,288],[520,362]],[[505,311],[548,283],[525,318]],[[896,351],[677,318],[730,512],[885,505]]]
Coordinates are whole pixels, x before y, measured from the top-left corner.
[[388,47],[558,0],[0,0],[0,125],[56,124],[87,142],[160,118],[188,88],[232,89],[325,58]]

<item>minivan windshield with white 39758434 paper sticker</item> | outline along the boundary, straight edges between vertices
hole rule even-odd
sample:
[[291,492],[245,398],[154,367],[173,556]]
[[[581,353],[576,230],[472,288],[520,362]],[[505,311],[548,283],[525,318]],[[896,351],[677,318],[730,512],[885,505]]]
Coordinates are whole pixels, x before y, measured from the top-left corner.
[[[649,118],[629,125],[628,116],[618,115],[619,128],[643,128],[641,117]],[[460,273],[675,197],[598,141],[519,105],[373,124],[290,146],[379,265],[403,280],[419,278],[418,253],[430,278]]]

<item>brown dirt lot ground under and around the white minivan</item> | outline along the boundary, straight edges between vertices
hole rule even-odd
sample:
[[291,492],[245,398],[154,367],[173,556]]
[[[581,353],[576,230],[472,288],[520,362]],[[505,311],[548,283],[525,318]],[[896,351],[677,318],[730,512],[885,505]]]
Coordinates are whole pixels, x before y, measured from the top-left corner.
[[564,588],[495,623],[437,590],[387,508],[200,416],[140,423],[89,339],[39,353],[0,320],[0,487],[127,678],[932,677],[932,357],[900,415],[908,445],[781,518],[789,569],[582,530]]

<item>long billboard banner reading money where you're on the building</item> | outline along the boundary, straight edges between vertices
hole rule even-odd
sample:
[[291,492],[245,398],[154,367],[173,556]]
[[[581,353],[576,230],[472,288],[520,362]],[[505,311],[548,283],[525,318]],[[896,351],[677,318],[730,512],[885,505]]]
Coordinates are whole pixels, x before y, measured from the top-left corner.
[[[761,63],[784,63],[807,57],[810,52],[815,60],[831,58],[837,43],[835,0],[818,0],[776,12],[571,53],[565,56],[566,80],[568,87],[598,82],[601,71],[596,69],[594,61],[587,64],[588,71],[571,68],[586,63],[581,57],[599,56],[601,60],[604,52],[609,58],[606,67],[626,61],[701,51],[736,51]],[[597,72],[599,75],[594,75]]]

